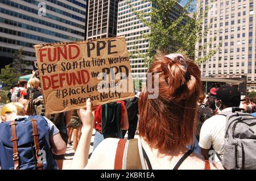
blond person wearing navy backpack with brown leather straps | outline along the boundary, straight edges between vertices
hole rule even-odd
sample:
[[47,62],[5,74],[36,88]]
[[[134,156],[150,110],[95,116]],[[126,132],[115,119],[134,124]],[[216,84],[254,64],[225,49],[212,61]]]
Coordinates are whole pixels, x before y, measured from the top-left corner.
[[40,115],[24,115],[20,103],[6,104],[1,118],[1,169],[58,169],[54,158],[65,153],[66,145],[50,120]]

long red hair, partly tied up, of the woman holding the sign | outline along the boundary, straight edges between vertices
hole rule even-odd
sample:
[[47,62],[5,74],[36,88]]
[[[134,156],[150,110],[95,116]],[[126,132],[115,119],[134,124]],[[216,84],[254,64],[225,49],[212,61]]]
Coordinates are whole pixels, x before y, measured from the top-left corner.
[[159,95],[149,99],[146,86],[139,99],[139,136],[159,151],[190,145],[195,135],[200,69],[187,56],[184,56],[187,66],[181,65],[180,58],[171,60],[158,53],[148,73],[153,73],[152,82],[154,73],[159,73],[159,86],[154,87]]

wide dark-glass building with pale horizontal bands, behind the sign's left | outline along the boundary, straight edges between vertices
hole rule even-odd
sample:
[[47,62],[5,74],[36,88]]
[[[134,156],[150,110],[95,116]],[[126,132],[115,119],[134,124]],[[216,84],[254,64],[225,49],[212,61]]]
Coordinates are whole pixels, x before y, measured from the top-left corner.
[[20,48],[34,61],[34,44],[84,40],[85,15],[85,0],[0,0],[0,68]]

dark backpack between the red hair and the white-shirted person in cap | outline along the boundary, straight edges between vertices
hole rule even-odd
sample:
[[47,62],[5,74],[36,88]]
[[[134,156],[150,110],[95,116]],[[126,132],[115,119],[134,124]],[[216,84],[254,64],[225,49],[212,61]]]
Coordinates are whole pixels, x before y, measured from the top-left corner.
[[214,111],[209,108],[206,104],[200,104],[198,106],[198,122],[197,122],[197,129],[196,129],[196,137],[199,140],[200,137],[200,130],[205,120],[209,119],[214,115]]

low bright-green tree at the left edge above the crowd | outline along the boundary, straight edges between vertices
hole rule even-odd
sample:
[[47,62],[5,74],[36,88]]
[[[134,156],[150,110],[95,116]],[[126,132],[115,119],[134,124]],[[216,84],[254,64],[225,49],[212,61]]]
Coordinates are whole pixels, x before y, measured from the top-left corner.
[[11,86],[18,83],[20,73],[15,73],[15,69],[11,68],[10,65],[6,65],[1,70],[0,82],[3,82],[3,90],[9,90]]

